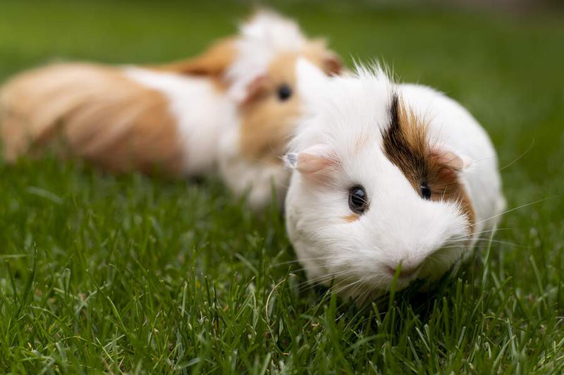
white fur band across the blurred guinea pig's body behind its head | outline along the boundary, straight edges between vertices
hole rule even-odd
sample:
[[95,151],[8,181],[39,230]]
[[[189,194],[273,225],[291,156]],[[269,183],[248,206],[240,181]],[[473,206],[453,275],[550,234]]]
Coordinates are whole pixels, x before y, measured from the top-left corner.
[[187,77],[153,70],[123,68],[135,82],[159,90],[168,99],[184,145],[186,175],[213,170],[218,158],[218,140],[238,124],[235,104],[218,92],[207,78]]

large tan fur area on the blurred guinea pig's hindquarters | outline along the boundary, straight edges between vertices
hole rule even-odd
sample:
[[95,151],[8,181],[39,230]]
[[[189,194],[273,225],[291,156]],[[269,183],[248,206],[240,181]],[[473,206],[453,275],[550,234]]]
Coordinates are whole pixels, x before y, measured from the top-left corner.
[[117,68],[72,63],[18,75],[0,94],[0,125],[8,161],[59,135],[73,154],[113,171],[182,166],[166,98]]

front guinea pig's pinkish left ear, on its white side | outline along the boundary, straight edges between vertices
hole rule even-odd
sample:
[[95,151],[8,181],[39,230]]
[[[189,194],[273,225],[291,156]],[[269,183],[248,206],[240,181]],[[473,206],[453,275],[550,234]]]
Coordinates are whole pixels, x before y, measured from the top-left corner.
[[328,177],[338,165],[333,150],[327,145],[314,145],[302,152],[289,152],[283,159],[288,168],[316,180]]

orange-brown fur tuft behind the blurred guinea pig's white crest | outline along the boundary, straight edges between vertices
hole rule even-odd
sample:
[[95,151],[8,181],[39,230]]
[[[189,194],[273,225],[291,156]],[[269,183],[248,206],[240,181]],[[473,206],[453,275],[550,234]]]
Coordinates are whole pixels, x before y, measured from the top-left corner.
[[235,38],[219,39],[199,56],[153,68],[185,75],[219,76],[235,60],[235,55]]

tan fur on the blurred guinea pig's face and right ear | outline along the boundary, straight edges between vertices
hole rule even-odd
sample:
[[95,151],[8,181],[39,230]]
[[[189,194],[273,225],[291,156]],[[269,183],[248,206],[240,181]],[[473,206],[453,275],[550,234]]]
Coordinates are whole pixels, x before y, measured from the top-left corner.
[[[301,113],[296,87],[295,63],[305,56],[328,75],[341,71],[336,54],[325,49],[324,42],[310,42],[300,53],[278,56],[265,77],[251,87],[252,96],[241,111],[240,149],[247,159],[281,164],[288,139]],[[280,85],[289,85],[292,96],[281,102],[277,97]]]

